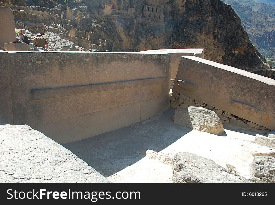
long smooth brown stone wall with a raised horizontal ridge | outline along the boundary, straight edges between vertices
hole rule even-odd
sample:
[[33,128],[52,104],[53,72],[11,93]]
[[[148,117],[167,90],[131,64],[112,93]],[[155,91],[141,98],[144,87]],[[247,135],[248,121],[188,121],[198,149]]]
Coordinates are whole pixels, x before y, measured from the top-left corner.
[[166,54],[3,51],[0,123],[27,124],[66,143],[147,119],[169,107],[170,60]]

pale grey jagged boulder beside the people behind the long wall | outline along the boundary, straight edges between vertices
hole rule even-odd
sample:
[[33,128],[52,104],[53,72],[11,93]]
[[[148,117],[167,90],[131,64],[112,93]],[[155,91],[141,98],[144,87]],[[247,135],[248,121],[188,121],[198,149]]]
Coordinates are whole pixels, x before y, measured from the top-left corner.
[[58,34],[46,32],[44,37],[48,41],[48,51],[78,51],[73,42],[60,38]]

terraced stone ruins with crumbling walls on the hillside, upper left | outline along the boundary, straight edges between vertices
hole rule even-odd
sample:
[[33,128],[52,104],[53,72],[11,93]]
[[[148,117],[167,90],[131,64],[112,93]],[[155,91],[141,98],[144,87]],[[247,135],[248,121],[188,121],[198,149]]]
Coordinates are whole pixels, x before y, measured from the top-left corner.
[[[101,39],[95,31],[84,29],[84,25],[91,23],[93,19],[98,19],[99,15],[97,14],[79,12],[76,9],[67,7],[61,15],[58,15],[47,8],[26,7],[26,1],[24,0],[2,0],[0,6],[12,9],[16,28],[22,28],[34,34],[37,32],[43,34],[48,31],[57,33],[60,38],[73,42],[75,46],[79,47],[79,50],[114,51],[115,49],[113,42]],[[100,10],[98,14],[103,19],[104,16],[110,18],[119,18],[120,16],[123,18],[134,18],[136,21],[146,22],[151,26],[158,26],[160,30],[164,30],[165,26],[163,9],[154,6],[145,5],[143,11],[138,12],[134,8],[123,8],[113,4],[106,4],[104,10]]]

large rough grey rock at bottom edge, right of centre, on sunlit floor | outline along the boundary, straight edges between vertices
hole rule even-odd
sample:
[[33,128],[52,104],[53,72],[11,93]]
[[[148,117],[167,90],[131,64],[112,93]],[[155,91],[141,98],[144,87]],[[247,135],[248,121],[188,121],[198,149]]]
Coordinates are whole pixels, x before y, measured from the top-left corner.
[[174,183],[251,183],[214,161],[188,152],[178,152],[173,161]]

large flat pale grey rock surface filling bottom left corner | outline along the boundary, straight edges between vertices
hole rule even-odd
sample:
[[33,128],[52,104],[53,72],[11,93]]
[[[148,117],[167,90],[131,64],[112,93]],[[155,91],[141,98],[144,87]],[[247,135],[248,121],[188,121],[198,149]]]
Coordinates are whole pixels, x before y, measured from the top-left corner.
[[0,125],[1,183],[108,183],[105,177],[27,125]]

